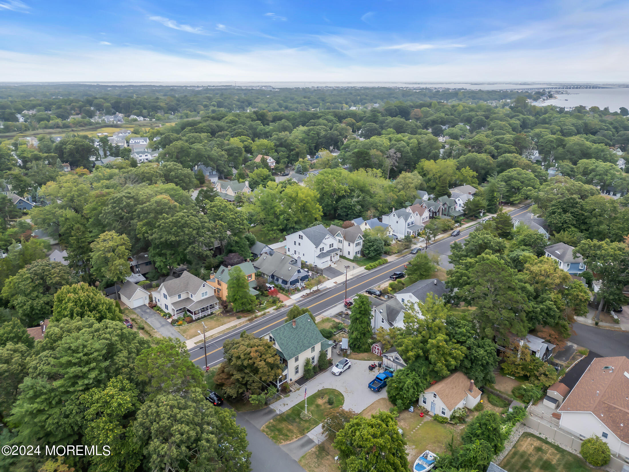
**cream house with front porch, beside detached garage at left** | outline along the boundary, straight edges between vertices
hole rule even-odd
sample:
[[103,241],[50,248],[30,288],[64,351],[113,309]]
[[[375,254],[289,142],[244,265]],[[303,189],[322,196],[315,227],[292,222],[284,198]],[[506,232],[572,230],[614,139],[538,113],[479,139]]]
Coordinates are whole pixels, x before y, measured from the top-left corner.
[[187,271],[177,279],[165,281],[154,290],[153,301],[174,318],[191,316],[196,320],[220,310],[214,289]]

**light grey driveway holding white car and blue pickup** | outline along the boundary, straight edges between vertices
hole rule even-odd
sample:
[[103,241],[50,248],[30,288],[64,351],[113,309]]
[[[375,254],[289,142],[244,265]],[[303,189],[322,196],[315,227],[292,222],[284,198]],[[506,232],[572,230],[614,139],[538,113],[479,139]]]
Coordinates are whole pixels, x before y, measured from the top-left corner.
[[[335,354],[335,362],[337,362],[338,359],[339,357]],[[292,392],[290,396],[278,400],[270,406],[274,408],[276,412],[283,413],[304,399],[304,387],[306,386],[308,387],[307,398],[316,395],[316,392],[322,388],[335,388],[345,396],[343,408],[360,413],[378,398],[386,398],[387,396],[386,388],[380,393],[376,393],[367,388],[369,382],[372,381],[378,373],[378,369],[372,372],[369,371],[367,366],[371,363],[371,361],[352,361],[352,367],[339,376],[331,373],[330,368],[315,378],[310,379],[300,390]]]

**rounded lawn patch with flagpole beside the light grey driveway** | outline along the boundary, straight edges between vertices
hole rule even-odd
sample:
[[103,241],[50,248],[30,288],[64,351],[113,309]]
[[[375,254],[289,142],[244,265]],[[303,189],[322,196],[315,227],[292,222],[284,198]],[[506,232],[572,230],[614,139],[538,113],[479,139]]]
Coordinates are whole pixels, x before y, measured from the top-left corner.
[[[295,393],[294,395],[299,395]],[[323,396],[323,398],[321,398]],[[333,396],[333,405],[328,405],[328,398]],[[294,441],[313,429],[326,419],[327,413],[332,408],[338,408],[345,402],[343,394],[333,388],[324,388],[308,398],[308,413],[312,417],[308,420],[301,419],[301,413],[305,410],[305,401],[276,416],[262,427],[262,432],[277,444],[286,444]]]

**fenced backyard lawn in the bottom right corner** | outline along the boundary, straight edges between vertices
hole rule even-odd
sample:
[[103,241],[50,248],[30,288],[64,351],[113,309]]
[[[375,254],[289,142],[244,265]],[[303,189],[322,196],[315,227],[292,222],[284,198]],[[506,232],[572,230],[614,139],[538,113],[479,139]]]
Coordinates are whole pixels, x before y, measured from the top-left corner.
[[545,439],[525,432],[500,466],[509,472],[591,472],[587,463]]

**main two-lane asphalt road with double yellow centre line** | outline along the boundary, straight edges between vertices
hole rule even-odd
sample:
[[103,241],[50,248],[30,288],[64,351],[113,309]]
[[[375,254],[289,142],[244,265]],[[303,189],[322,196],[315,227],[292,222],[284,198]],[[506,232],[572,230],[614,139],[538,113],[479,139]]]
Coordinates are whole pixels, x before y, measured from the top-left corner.
[[[530,206],[519,208],[509,212],[509,215],[523,215],[527,213]],[[428,244],[428,252],[430,254],[438,254],[440,256],[440,266],[445,269],[452,268],[452,264],[448,261],[448,255],[450,254],[450,244],[455,241],[460,241],[469,236],[469,233],[474,230],[474,227],[465,228],[462,230],[459,236],[448,236],[445,239]],[[389,275],[396,271],[403,271],[404,264],[410,261],[413,254],[406,254],[399,257],[395,261],[387,262],[384,266],[376,267],[371,271],[361,274],[355,278],[350,278],[347,281],[347,297],[357,295],[358,293],[364,293],[368,288],[375,287],[389,280]],[[351,276],[351,273],[350,273]],[[345,300],[345,284],[341,283],[337,286],[333,286],[322,291],[320,294],[310,296],[305,300],[298,301],[297,305],[309,308],[313,315],[330,310],[335,305],[339,305]],[[267,334],[270,330],[275,329],[277,326],[284,323],[286,318],[286,312],[290,307],[279,310],[278,312],[271,313],[265,317],[259,318],[251,323],[242,325],[236,329],[233,329],[225,334],[222,334],[213,339],[209,339],[207,342],[208,349],[208,366],[213,367],[223,361],[223,342],[227,339],[235,339],[240,336],[243,330],[247,330],[248,333],[256,335],[258,337]],[[191,360],[198,366],[203,367],[205,365],[203,344],[194,346],[188,350],[190,352]]]

